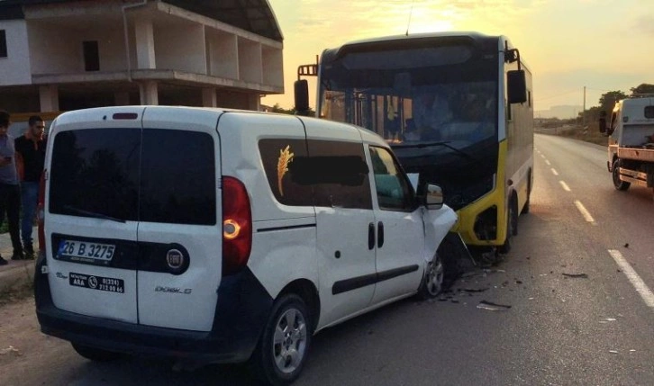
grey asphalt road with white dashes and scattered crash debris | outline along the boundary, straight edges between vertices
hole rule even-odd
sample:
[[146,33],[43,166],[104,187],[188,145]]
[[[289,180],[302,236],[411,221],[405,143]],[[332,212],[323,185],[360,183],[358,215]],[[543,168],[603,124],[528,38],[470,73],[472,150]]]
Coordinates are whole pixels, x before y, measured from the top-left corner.
[[[615,191],[601,146],[537,135],[534,157],[531,213],[502,263],[444,301],[400,301],[323,331],[295,384],[654,384],[652,192]],[[242,366],[93,364],[38,332],[32,301],[8,307],[23,327],[0,328],[0,349],[27,343],[0,355],[5,386],[255,384]]]

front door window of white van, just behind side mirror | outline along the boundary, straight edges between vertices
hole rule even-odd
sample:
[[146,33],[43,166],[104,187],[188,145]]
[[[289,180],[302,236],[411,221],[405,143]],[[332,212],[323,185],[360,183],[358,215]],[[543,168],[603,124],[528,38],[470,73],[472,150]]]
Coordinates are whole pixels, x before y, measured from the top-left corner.
[[379,209],[413,211],[413,189],[406,180],[395,157],[386,148],[370,147]]

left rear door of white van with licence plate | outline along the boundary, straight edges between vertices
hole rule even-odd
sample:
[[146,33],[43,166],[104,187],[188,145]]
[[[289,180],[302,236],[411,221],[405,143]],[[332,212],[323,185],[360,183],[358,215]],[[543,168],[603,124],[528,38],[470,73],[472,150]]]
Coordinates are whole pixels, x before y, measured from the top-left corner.
[[[138,322],[142,107],[62,115],[46,163],[46,259],[60,310]],[[127,113],[128,115],[115,115]]]

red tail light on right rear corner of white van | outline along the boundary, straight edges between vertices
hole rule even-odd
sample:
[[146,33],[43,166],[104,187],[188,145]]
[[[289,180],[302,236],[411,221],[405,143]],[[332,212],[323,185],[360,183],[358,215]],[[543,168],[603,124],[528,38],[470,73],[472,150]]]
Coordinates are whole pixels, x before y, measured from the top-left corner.
[[248,264],[252,248],[252,213],[245,185],[223,177],[223,276]]

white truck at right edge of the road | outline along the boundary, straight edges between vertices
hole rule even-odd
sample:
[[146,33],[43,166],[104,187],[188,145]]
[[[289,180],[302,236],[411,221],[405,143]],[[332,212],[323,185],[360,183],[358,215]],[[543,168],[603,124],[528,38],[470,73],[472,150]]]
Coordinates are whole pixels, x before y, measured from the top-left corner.
[[615,103],[608,127],[604,116],[599,127],[609,137],[607,166],[615,189],[654,188],[654,94]]

